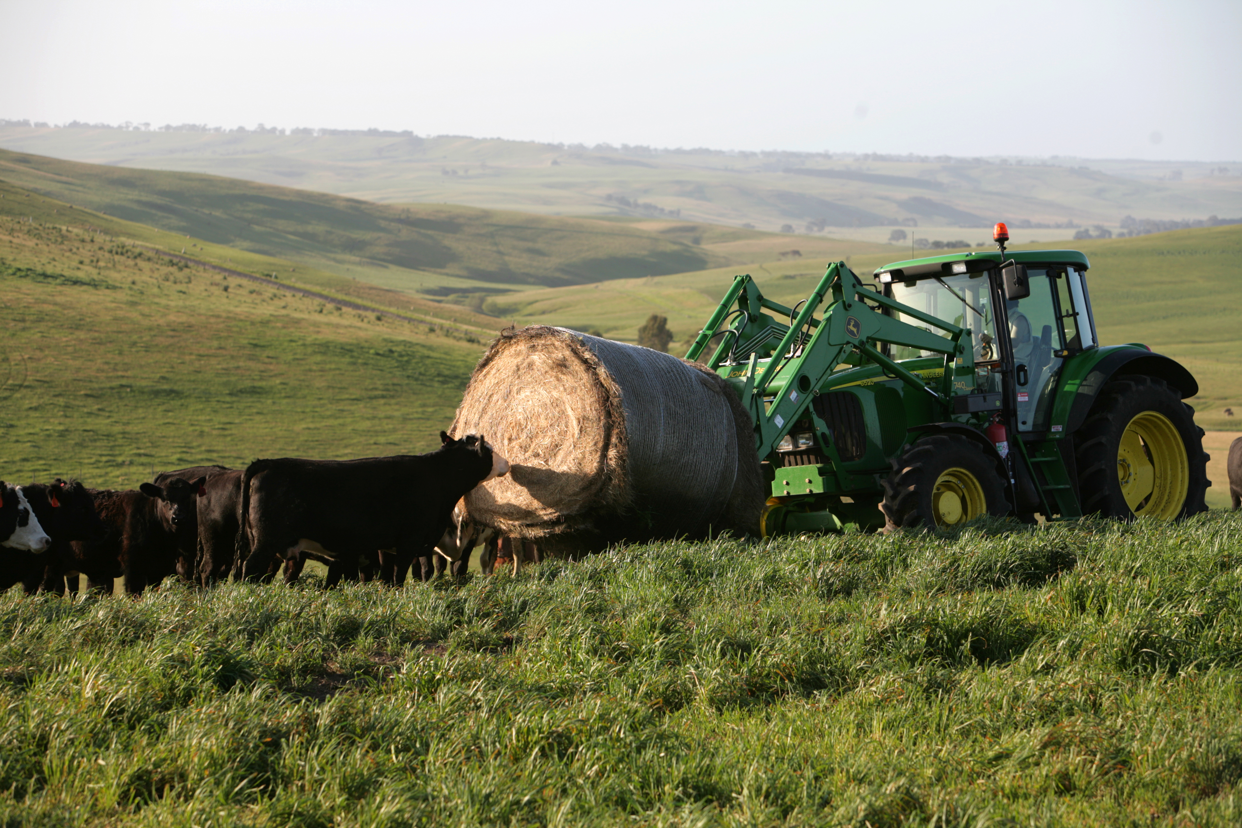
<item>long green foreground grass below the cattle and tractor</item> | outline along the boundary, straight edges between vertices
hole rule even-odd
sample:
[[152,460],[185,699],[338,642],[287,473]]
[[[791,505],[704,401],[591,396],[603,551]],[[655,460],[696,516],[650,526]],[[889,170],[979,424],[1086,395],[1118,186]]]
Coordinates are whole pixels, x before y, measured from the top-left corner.
[[6,824],[1230,826],[1242,520],[0,597]]

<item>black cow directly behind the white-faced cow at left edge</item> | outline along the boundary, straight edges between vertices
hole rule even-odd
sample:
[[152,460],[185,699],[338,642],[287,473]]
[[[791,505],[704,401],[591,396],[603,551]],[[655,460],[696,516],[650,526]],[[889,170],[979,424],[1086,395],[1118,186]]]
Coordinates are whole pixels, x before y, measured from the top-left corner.
[[78,572],[94,572],[96,567],[77,560],[72,541],[98,540],[104,533],[91,492],[77,480],[66,483],[60,478],[53,483],[24,487],[24,492],[52,545],[45,555],[11,555],[0,572],[0,590],[21,581],[27,593],[48,591],[61,595],[68,580],[70,591],[76,592]]

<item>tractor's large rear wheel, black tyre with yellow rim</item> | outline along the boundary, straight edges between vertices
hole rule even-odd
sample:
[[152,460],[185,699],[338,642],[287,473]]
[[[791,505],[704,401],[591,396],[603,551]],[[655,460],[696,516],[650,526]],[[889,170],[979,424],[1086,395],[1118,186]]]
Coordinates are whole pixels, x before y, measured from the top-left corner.
[[1206,511],[1207,454],[1194,415],[1163,380],[1105,385],[1074,434],[1083,514],[1172,520]]

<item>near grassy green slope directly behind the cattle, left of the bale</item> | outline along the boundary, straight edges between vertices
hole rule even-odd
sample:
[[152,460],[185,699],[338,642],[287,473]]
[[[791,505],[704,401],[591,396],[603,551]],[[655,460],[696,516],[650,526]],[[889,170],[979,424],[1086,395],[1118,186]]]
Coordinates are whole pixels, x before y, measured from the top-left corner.
[[[5,199],[0,201],[0,205]],[[479,343],[0,217],[0,477],[430,451]]]

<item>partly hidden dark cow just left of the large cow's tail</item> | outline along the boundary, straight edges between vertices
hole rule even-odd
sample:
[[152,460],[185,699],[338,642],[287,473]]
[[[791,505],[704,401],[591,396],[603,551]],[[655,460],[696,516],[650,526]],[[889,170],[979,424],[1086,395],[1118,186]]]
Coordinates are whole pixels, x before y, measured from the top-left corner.
[[235,560],[237,540],[237,510],[241,503],[241,469],[224,466],[194,466],[176,472],[163,472],[155,477],[155,485],[166,487],[173,480],[194,483],[202,478],[197,499],[197,547],[193,578],[205,586],[229,577],[240,566]]

